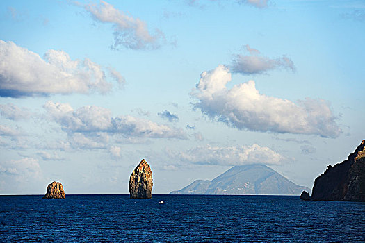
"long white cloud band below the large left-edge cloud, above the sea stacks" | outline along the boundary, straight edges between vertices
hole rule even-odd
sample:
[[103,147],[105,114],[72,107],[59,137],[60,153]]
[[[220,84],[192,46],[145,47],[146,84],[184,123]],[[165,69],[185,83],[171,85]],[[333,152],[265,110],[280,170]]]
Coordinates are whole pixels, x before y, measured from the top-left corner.
[[[178,128],[156,124],[130,115],[112,117],[111,110],[99,106],[83,106],[74,110],[67,103],[47,101],[44,105],[51,119],[67,133],[81,135],[123,135],[124,137],[185,139],[186,133]],[[79,137],[79,140],[83,137]],[[104,142],[107,142],[106,140]]]

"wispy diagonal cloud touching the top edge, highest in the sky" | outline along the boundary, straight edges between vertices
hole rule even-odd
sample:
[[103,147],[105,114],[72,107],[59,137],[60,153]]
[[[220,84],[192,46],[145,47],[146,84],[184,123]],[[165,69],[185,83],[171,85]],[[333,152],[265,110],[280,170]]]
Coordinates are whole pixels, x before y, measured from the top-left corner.
[[163,33],[156,29],[152,34],[141,19],[125,14],[106,1],[86,4],[84,8],[92,17],[102,23],[111,23],[114,28],[112,49],[156,49],[165,41]]

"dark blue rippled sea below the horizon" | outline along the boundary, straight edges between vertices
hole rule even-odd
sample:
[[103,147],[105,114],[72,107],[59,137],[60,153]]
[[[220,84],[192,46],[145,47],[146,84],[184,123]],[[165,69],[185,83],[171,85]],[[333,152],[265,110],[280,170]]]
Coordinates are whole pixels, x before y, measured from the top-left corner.
[[365,203],[299,196],[0,196],[0,242],[365,242]]

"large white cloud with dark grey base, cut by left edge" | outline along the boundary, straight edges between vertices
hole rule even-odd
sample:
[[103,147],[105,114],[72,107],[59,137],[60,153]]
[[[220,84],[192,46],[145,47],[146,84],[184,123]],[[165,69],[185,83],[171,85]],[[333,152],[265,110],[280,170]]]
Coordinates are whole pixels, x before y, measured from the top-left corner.
[[[116,71],[111,76],[117,75]],[[72,60],[65,51],[37,53],[0,40],[0,97],[106,93],[112,84],[90,59]]]

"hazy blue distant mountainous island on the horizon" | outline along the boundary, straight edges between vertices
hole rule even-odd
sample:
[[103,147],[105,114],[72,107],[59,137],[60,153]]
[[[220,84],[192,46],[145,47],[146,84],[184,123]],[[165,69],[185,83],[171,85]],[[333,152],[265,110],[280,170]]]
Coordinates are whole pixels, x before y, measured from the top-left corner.
[[300,195],[296,185],[266,165],[237,165],[212,181],[197,180],[170,194]]

